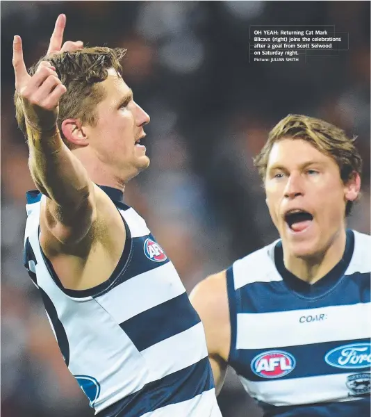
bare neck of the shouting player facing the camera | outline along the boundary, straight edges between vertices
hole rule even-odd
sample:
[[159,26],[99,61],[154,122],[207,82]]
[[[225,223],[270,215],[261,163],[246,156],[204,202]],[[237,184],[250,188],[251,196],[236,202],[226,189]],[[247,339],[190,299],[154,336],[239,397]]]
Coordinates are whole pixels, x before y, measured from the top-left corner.
[[289,253],[285,254],[283,250],[285,267],[296,277],[309,284],[314,284],[327,275],[340,259],[342,259],[346,240],[347,236],[344,229],[336,235],[329,247],[327,247],[327,250],[306,259],[290,256]]

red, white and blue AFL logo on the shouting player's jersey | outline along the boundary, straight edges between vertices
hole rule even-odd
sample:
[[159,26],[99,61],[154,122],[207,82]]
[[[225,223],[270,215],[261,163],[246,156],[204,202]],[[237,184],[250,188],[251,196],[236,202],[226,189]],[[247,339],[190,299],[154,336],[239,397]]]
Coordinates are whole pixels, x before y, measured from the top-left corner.
[[292,354],[282,350],[270,350],[254,357],[252,372],[262,378],[280,378],[288,375],[295,365]]

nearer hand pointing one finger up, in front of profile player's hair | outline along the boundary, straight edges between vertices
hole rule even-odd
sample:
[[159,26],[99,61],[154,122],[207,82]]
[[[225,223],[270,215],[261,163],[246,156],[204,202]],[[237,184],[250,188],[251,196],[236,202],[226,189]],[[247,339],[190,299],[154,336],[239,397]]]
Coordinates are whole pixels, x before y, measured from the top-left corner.
[[67,91],[58,79],[55,68],[47,61],[42,61],[33,76],[28,74],[23,59],[22,39],[18,35],[15,35],[13,42],[13,67],[15,90],[22,99],[26,124],[39,132],[53,129],[58,118],[60,97]]

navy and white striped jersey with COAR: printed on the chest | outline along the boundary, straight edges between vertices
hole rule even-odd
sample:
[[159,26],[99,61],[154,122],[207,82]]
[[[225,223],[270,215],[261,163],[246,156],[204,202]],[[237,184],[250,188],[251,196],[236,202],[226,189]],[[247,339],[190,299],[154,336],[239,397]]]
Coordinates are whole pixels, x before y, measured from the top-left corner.
[[343,259],[313,285],[277,240],[226,272],[229,364],[265,416],[370,415],[371,237],[347,230]]

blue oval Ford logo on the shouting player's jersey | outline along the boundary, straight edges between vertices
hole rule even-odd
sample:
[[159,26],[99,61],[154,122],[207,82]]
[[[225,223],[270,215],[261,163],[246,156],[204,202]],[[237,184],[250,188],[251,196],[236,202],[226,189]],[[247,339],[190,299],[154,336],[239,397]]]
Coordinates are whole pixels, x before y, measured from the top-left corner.
[[371,343],[352,343],[336,347],[327,352],[324,360],[336,368],[369,368],[371,365]]

